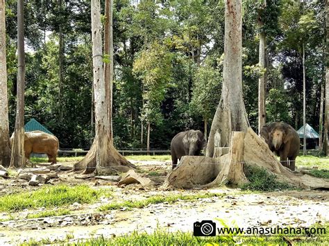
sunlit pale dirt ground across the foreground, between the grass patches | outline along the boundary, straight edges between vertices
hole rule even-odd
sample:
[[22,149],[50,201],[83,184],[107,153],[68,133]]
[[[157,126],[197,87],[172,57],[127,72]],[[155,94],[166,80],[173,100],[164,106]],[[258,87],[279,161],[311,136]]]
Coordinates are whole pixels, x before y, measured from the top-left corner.
[[[132,161],[141,173],[149,173],[151,188],[132,184],[118,187],[115,182],[103,179],[76,179],[71,173],[61,173],[51,179],[51,184],[89,184],[94,188],[111,188],[113,197],[95,204],[72,204],[69,216],[26,219],[29,213],[44,211],[25,210],[11,214],[16,220],[0,222],[0,245],[17,245],[27,240],[58,240],[119,236],[132,231],[151,233],[157,228],[169,231],[192,231],[193,223],[220,219],[232,227],[310,227],[316,222],[329,221],[328,191],[276,191],[270,193],[242,192],[239,189],[212,188],[208,190],[162,191],[161,185],[171,164],[165,161]],[[22,179],[0,179],[0,195],[37,189]],[[51,185],[45,184],[45,185]],[[120,209],[99,212],[97,209],[109,202],[142,200],[153,195],[217,193],[219,197],[195,201],[179,200],[172,204],[150,204],[143,209]],[[8,213],[0,213],[7,218]],[[219,222],[217,223],[219,225]]]

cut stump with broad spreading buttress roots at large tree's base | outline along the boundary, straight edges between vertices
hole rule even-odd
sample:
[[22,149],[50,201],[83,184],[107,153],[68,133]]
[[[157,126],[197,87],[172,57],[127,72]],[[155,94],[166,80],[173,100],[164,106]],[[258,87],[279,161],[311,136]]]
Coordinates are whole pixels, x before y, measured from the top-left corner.
[[185,156],[174,170],[168,173],[162,188],[209,188],[220,184],[241,185],[248,182],[244,175],[244,165],[264,168],[287,182],[301,188],[329,188],[325,179],[293,172],[280,164],[269,146],[251,128],[246,132],[232,132],[230,151],[221,157]]

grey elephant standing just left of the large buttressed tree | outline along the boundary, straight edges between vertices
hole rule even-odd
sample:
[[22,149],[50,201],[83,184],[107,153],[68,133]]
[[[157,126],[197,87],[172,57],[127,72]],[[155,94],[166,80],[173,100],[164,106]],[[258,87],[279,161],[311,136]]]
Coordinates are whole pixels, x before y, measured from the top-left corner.
[[184,155],[200,155],[205,146],[205,137],[200,130],[188,130],[176,134],[170,143],[172,169],[176,168],[178,159]]

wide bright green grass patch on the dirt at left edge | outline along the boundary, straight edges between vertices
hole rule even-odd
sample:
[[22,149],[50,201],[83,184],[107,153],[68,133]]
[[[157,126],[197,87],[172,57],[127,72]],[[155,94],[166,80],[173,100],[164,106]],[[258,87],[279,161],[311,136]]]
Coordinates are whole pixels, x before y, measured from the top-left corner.
[[0,211],[22,211],[37,207],[60,207],[68,204],[91,203],[101,195],[110,193],[104,190],[94,190],[87,185],[78,186],[43,186],[37,191],[20,192],[0,197]]

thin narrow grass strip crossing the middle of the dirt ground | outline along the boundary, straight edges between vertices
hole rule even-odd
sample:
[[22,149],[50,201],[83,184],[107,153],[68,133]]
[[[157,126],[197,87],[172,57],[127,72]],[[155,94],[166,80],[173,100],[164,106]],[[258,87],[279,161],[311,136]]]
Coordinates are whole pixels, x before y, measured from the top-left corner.
[[219,197],[220,194],[217,193],[205,193],[205,194],[197,194],[197,195],[154,195],[153,197],[149,197],[144,200],[138,201],[126,201],[126,202],[112,202],[110,204],[103,205],[99,208],[99,211],[108,211],[108,210],[116,210],[116,209],[142,209],[149,204],[158,204],[163,202],[176,202],[178,200],[185,201],[193,201],[199,198],[209,198],[209,197]]

